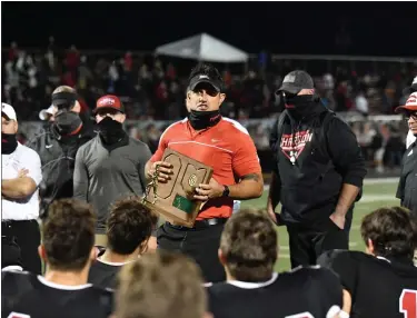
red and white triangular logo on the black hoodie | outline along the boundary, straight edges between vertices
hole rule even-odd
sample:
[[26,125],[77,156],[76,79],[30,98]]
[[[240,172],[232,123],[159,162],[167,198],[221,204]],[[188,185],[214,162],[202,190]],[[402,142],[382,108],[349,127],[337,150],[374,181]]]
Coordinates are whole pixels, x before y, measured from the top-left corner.
[[282,153],[295,165],[298,157],[300,157],[307,142],[312,139],[312,132],[309,130],[297,131],[295,133],[284,133],[281,138]]

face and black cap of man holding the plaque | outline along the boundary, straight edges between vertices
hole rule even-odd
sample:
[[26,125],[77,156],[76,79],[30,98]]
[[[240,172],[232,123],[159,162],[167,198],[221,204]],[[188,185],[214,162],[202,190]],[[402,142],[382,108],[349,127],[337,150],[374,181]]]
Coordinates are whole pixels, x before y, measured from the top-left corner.
[[226,95],[225,82],[219,71],[211,64],[199,63],[191,70],[187,88],[188,111],[217,111]]

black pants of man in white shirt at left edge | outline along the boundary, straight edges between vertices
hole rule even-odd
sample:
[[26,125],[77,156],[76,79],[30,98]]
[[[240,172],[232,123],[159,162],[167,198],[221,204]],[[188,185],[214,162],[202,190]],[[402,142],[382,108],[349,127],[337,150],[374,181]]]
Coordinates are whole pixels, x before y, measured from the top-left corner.
[[[2,221],[1,235],[18,244],[23,270],[41,275],[42,266],[38,254],[40,229],[37,220]],[[7,251],[4,251],[7,252]],[[10,257],[2,255],[3,257]]]

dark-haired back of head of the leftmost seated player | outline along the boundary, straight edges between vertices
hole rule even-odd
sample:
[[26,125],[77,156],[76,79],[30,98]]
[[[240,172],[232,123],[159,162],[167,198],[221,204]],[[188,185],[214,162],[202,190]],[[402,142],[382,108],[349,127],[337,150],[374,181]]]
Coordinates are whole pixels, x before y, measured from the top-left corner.
[[96,215],[90,205],[75,200],[53,201],[42,225],[39,255],[48,269],[82,271],[95,259]]

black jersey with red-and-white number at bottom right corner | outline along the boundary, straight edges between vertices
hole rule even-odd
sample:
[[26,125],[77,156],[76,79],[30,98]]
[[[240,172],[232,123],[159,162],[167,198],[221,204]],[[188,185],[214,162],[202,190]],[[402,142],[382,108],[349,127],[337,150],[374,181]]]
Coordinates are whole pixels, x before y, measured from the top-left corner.
[[332,269],[350,292],[350,317],[417,318],[417,268],[411,260],[334,250],[318,264]]

